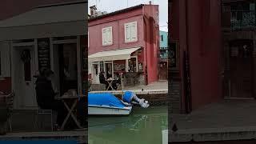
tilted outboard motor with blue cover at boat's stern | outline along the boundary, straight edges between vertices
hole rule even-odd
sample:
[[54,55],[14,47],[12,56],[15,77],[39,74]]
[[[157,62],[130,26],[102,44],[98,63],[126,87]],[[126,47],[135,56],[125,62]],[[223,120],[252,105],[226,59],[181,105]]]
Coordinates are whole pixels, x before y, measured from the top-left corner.
[[122,101],[138,104],[143,108],[147,108],[148,106],[150,106],[149,102],[147,102],[144,98],[138,98],[137,95],[131,91],[126,91],[125,94],[122,95]]

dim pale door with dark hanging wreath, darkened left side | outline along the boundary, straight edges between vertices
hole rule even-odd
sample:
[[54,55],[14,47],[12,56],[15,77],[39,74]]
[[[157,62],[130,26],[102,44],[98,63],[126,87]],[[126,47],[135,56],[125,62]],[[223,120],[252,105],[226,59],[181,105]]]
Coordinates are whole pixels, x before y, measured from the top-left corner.
[[37,107],[34,83],[34,46],[14,46],[12,56],[14,109],[31,110]]

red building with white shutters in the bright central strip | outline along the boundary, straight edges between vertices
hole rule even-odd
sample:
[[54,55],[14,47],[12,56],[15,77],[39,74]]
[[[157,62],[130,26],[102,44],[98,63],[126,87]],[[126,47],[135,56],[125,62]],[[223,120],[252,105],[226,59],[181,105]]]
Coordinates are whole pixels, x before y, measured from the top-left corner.
[[158,6],[138,5],[100,15],[95,15],[95,6],[90,9],[88,67],[93,82],[99,82],[102,70],[108,78],[124,73],[127,85],[157,81]]

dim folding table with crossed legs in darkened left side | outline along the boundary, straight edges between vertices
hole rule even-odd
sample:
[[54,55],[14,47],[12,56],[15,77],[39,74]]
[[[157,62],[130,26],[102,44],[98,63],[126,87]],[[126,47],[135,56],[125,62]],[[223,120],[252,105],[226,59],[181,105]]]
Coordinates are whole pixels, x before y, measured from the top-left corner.
[[[66,125],[66,122],[70,118],[70,116],[73,118],[73,120],[76,123],[76,125],[78,126],[78,128],[79,129],[83,129],[83,127],[81,126],[80,122],[78,122],[78,119],[74,116],[74,113],[73,113],[74,108],[78,104],[78,98],[82,98],[82,97],[85,97],[85,96],[84,95],[82,95],[82,96],[78,96],[78,95],[63,95],[62,97],[58,97],[58,99],[62,100],[62,102],[64,103],[64,106],[68,110],[68,114],[66,115],[66,118],[65,118],[64,122],[62,123],[61,130],[64,130],[64,126]],[[69,107],[66,104],[67,100],[74,100],[73,105],[71,107]]]

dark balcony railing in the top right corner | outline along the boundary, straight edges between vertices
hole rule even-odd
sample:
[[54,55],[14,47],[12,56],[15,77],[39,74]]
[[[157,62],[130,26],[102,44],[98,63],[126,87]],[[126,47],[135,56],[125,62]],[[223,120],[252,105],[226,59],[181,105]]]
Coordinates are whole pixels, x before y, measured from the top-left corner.
[[256,11],[231,11],[231,30],[256,28]]

